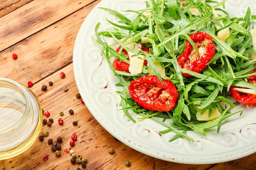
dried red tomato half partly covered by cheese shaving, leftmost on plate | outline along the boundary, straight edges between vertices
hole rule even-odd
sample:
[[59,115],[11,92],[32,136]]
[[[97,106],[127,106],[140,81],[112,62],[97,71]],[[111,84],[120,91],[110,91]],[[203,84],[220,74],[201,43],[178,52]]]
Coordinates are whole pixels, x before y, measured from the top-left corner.
[[[137,43],[137,44],[139,44],[139,43]],[[119,52],[120,48],[121,48],[121,46],[119,46],[116,51]],[[146,48],[143,45],[141,45],[141,50],[150,53],[148,48]],[[128,53],[125,49],[122,50],[122,53],[124,54],[124,57],[126,57],[128,59],[128,61],[130,61],[129,60],[129,55],[128,55]],[[148,61],[145,60],[144,65],[147,65],[147,64],[148,64]],[[130,73],[129,72],[129,66],[130,66],[130,64],[126,63],[125,61],[120,62],[120,59],[115,59],[114,62],[113,62],[113,67],[118,71]]]

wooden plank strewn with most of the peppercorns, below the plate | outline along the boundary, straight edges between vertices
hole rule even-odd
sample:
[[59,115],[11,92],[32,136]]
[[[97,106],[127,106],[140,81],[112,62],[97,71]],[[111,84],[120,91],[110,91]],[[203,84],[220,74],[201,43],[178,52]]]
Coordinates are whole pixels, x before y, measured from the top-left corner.
[[[75,94],[78,93],[76,88],[72,64],[59,70],[58,72],[48,76],[42,81],[36,83],[30,89],[38,96],[41,105],[45,111],[49,111],[54,119],[51,127],[43,126],[43,130],[49,130],[49,137],[45,137],[43,142],[37,140],[31,148],[21,155],[4,160],[0,163],[0,169],[6,168],[13,170],[20,169],[76,169],[81,165],[72,165],[70,162],[70,154],[65,153],[65,148],[70,148],[70,136],[76,133],[78,140],[72,149],[76,154],[81,154],[88,158],[86,169],[126,169],[125,160],[131,162],[131,166],[127,169],[205,169],[209,165],[188,165],[172,163],[155,159],[148,155],[129,148],[125,144],[115,141],[112,135],[93,118],[86,106],[76,99]],[[66,77],[60,78],[59,72],[65,72]],[[49,86],[48,82],[52,81],[53,86]],[[47,91],[42,92],[41,86],[48,85]],[[63,91],[63,87],[69,87],[67,92]],[[68,113],[69,109],[74,110],[74,115]],[[64,124],[61,126],[57,120],[60,118],[59,112],[63,111],[65,115],[62,117]],[[44,116],[45,118],[45,116]],[[78,121],[78,126],[73,126],[72,122]],[[61,157],[56,157],[47,144],[49,138],[56,139],[58,136],[63,137],[61,144]],[[115,154],[108,153],[109,148],[115,149]],[[43,162],[43,157],[49,155],[49,159]],[[13,167],[13,168],[11,168]],[[83,169],[83,168],[81,168]]]

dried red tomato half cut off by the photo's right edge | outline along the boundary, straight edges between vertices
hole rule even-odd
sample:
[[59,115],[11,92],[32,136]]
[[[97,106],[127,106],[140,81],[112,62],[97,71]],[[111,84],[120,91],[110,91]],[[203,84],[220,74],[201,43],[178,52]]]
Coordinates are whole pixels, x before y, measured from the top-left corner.
[[[255,73],[255,72],[256,72],[256,69],[253,70],[251,73]],[[256,76],[249,76],[248,82],[251,83],[252,85],[256,85]],[[234,90],[234,88],[235,86],[233,85],[230,87],[231,94],[236,99],[236,101],[244,105],[256,105],[256,95],[244,94]]]

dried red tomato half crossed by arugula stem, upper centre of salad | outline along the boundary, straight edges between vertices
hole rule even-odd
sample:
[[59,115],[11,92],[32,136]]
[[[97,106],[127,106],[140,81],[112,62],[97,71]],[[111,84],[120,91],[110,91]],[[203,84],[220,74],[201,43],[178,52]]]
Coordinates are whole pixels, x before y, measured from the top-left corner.
[[[189,37],[194,41],[200,56],[195,52],[195,49],[190,42],[186,40],[185,50],[178,58],[178,63],[181,68],[200,73],[213,58],[215,54],[215,45],[213,44],[212,37],[204,32],[191,34]],[[182,75],[191,77],[191,75],[186,73],[183,73]]]

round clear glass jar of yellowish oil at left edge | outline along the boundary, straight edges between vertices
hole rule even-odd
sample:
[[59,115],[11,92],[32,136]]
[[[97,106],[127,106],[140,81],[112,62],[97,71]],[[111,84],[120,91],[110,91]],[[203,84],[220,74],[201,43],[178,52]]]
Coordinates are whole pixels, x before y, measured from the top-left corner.
[[0,160],[23,153],[42,128],[42,109],[25,86],[0,78]]

